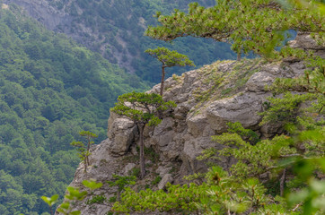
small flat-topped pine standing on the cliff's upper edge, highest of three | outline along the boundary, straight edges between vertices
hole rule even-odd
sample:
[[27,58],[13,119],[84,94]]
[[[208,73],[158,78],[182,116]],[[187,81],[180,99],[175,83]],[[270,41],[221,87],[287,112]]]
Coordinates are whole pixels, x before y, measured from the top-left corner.
[[163,96],[163,83],[165,79],[165,68],[172,66],[195,66],[188,56],[181,55],[177,51],[171,51],[167,47],[157,47],[155,49],[146,49],[145,53],[157,58],[162,65],[162,81],[160,85],[160,95]]

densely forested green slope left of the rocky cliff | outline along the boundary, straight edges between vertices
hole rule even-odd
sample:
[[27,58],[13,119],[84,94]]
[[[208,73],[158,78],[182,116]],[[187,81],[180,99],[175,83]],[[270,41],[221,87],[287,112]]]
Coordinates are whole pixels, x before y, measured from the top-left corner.
[[102,141],[116,98],[145,90],[138,80],[0,7],[0,214],[48,211],[40,195],[64,193],[80,161],[69,143],[82,130]]

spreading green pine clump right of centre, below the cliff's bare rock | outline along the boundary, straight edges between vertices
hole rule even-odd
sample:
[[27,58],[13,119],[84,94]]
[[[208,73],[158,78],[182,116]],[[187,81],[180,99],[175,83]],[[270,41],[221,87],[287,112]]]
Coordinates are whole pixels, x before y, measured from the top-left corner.
[[[222,135],[213,136],[215,142],[224,144],[223,150],[218,151],[218,155],[233,156],[238,160],[230,169],[234,176],[248,177],[259,176],[277,167],[277,159],[295,154],[297,151],[292,147],[293,140],[288,136],[281,135],[271,140],[263,140],[254,145],[245,142],[237,133],[223,133]],[[215,150],[205,150],[203,158],[207,159],[215,156]],[[207,152],[207,153],[206,153]]]

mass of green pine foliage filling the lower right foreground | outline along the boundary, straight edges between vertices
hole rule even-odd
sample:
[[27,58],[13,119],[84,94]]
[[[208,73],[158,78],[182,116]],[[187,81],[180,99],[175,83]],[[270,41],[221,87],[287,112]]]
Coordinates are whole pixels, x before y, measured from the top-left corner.
[[[196,10],[203,12],[205,9],[198,7]],[[181,14],[178,11],[175,13]],[[192,13],[189,12],[190,15]],[[160,14],[158,16],[161,17]],[[147,189],[136,193],[128,188],[121,201],[114,204],[113,211],[323,214],[324,61],[312,54],[301,57],[307,59],[306,64],[311,69],[303,77],[295,80],[279,79],[270,86],[268,90],[274,93],[274,97],[268,98],[266,110],[262,113],[262,125],[283,125],[284,133],[259,140],[259,135],[250,129],[238,123],[229,123],[228,133],[212,137],[224,148],[204,150],[198,158],[211,162],[220,157],[233,157],[237,162],[229,169],[229,173],[214,165],[207,171],[206,181],[200,185],[170,185],[167,192]],[[296,90],[298,93],[287,90]],[[283,93],[282,96],[276,97],[279,93]],[[268,180],[278,181],[278,187],[273,186],[272,191],[268,191],[257,178],[262,174],[270,177],[264,179],[264,183],[268,184]],[[187,178],[198,177],[202,175],[195,174]],[[285,198],[267,194],[280,193],[284,196],[285,187],[288,193]]]

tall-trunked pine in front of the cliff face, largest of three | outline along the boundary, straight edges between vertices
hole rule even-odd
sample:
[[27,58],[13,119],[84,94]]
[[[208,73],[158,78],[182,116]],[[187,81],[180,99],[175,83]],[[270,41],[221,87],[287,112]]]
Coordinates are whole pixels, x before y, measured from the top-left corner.
[[160,124],[162,120],[158,115],[170,107],[176,107],[175,103],[172,101],[164,102],[162,96],[158,94],[129,92],[119,96],[116,106],[110,109],[119,116],[129,117],[139,130],[141,178],[145,177],[145,125]]

